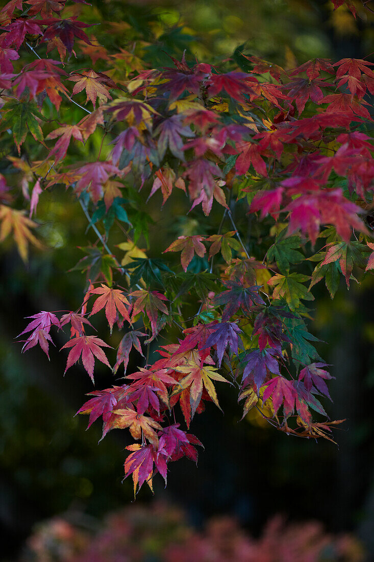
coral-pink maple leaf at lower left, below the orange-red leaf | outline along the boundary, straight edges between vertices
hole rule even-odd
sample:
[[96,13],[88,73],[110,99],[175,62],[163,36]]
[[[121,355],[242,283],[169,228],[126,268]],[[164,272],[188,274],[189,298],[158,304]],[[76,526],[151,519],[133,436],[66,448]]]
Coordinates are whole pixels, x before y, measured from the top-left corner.
[[65,349],[68,347],[71,347],[71,350],[69,351],[69,355],[67,356],[64,374],[66,373],[67,369],[71,367],[71,365],[74,365],[74,363],[79,360],[80,356],[82,356],[83,366],[89,374],[92,382],[94,380],[93,370],[95,366],[95,357],[97,357],[99,361],[104,363],[104,365],[110,367],[109,361],[107,360],[107,357],[101,348],[112,347],[96,336],[77,336],[70,339],[69,342],[65,343],[65,345],[62,346],[61,349]]

